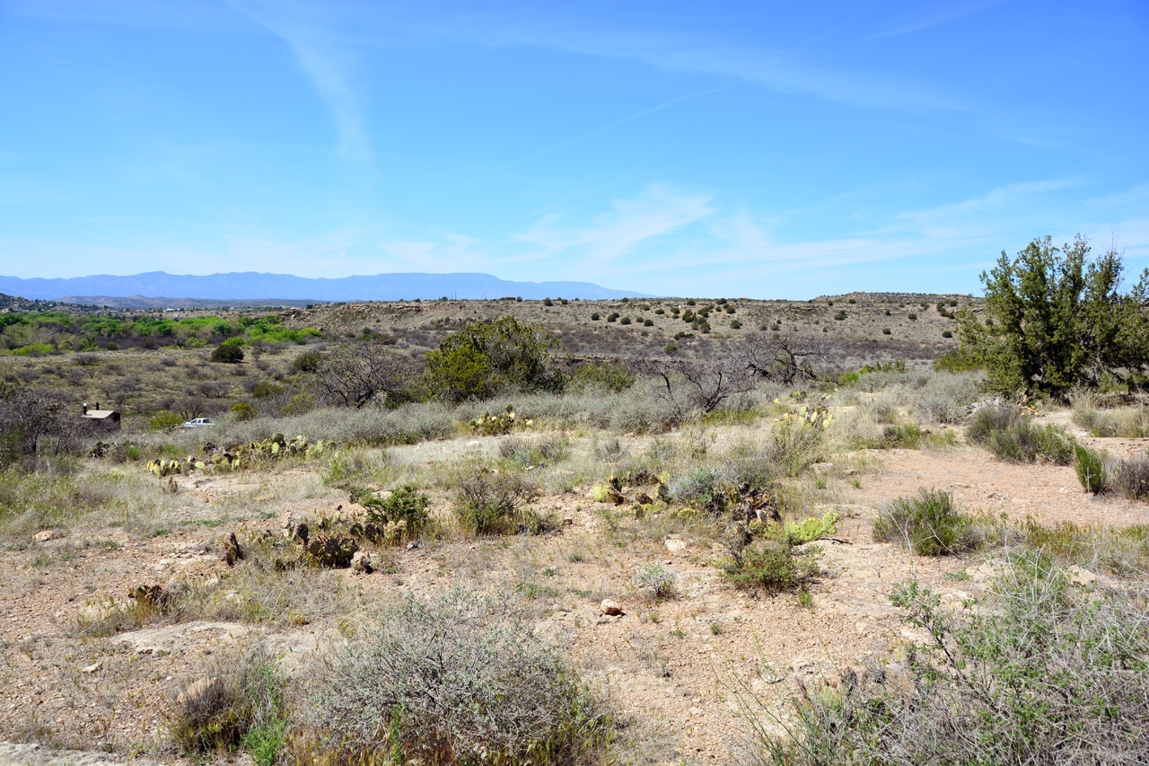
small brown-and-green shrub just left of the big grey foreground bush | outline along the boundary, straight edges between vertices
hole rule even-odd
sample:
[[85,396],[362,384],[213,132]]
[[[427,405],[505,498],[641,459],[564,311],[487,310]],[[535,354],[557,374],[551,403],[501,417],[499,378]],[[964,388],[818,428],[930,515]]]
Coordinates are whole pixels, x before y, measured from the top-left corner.
[[260,766],[275,764],[287,729],[286,680],[261,648],[217,665],[176,699],[167,721],[172,740],[190,754],[244,748]]

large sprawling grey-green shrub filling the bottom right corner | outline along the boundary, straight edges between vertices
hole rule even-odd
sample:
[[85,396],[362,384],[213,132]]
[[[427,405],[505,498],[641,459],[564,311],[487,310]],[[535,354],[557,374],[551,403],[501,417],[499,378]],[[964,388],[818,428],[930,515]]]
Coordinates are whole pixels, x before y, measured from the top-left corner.
[[769,731],[773,698],[750,682],[735,698],[754,731],[750,763],[1144,763],[1149,752],[1149,614],[1142,589],[1078,590],[1028,552],[974,611],[954,614],[916,582],[894,604],[927,643],[904,666],[802,684],[791,736]]

